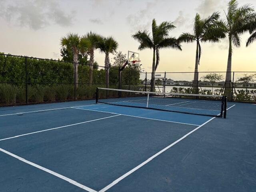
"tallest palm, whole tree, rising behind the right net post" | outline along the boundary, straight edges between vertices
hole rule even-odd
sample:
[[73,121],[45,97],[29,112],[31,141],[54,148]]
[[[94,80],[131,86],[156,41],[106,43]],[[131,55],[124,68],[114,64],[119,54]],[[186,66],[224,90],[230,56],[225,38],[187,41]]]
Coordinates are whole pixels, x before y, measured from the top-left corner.
[[228,2],[228,12],[225,12],[225,14],[226,20],[223,22],[223,24],[224,31],[228,35],[229,48],[224,94],[226,94],[228,99],[230,99],[232,95],[232,44],[236,47],[240,47],[240,35],[244,32],[252,30],[251,26],[255,21],[256,14],[254,12],[254,8],[250,4],[238,7],[237,0],[230,0],[230,2]]

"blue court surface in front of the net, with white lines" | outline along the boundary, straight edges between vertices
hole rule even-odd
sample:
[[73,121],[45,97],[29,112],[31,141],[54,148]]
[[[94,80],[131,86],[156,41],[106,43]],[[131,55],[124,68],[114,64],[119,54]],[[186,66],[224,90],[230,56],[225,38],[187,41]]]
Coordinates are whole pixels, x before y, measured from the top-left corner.
[[256,105],[227,118],[78,101],[0,108],[0,192],[256,191]]

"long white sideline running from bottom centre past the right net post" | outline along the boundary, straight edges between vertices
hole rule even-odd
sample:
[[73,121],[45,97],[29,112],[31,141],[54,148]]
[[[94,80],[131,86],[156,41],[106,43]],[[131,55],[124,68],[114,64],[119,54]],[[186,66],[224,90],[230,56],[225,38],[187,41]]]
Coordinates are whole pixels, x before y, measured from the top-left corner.
[[[235,105],[231,106],[230,108],[234,107]],[[228,108],[228,109],[230,109]],[[227,110],[228,110],[227,109]],[[141,168],[142,166],[144,166],[145,164],[147,164],[148,162],[150,162],[151,160],[153,160],[154,158],[156,158],[158,155],[162,154],[163,152],[165,152],[166,150],[168,150],[169,148],[171,148],[172,146],[174,146],[175,144],[177,144],[178,142],[180,142],[181,140],[183,140],[184,138],[186,138],[187,136],[189,136],[190,134],[192,134],[193,132],[195,132],[196,130],[198,130],[199,128],[201,128],[202,126],[204,126],[205,124],[207,124],[208,122],[210,122],[211,120],[215,119],[216,117],[211,118],[210,120],[204,122],[202,125],[198,126],[197,128],[195,128],[194,130],[188,132],[186,135],[184,135],[183,137],[181,137],[180,139],[176,140],[175,142],[173,142],[172,144],[170,144],[169,146],[167,146],[166,148],[162,149],[161,151],[159,151],[158,153],[154,154],[153,156],[151,156],[150,158],[148,158],[146,161],[142,162],[141,164],[139,164],[138,166],[136,166],[135,168],[133,168],[132,170],[128,171],[126,174],[122,175],[121,177],[119,177],[118,179],[114,180],[112,183],[110,183],[109,185],[107,185],[106,187],[104,187],[102,190],[100,190],[99,192],[105,192],[106,190],[108,190],[109,188],[111,188],[112,186],[114,186],[115,184],[117,184],[118,182],[120,182],[122,179],[126,178],[127,176],[129,176],[130,174],[132,174],[133,172],[135,172],[136,170],[138,170],[139,168]]]

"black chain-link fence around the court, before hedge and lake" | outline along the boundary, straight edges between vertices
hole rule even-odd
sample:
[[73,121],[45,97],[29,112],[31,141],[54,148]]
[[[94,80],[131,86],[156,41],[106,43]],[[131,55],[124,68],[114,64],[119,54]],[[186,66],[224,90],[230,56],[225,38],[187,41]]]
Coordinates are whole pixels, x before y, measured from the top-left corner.
[[88,64],[0,54],[0,105],[94,99],[96,87],[218,94],[230,101],[256,103],[256,72],[152,74],[132,66],[122,72],[115,66],[94,66],[92,83],[89,73]]

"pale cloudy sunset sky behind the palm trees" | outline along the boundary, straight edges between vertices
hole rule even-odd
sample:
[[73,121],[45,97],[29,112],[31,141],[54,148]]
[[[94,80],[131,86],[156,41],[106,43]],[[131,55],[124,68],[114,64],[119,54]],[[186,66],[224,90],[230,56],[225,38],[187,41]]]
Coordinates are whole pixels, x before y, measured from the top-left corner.
[[[255,0],[238,0],[239,5]],[[152,19],[160,24],[174,22],[170,36],[192,32],[196,13],[202,18],[220,11],[224,18],[227,0],[0,0],[0,52],[39,58],[61,59],[60,38],[68,32],[84,35],[93,31],[112,36],[118,51],[139,52],[142,68],[150,72],[152,50],[138,51],[132,38],[138,30],[149,30]],[[233,47],[232,71],[256,71],[256,42],[246,48],[250,34],[241,36],[240,48]],[[200,72],[226,71],[228,40],[202,43]],[[182,44],[182,51],[160,50],[157,72],[193,72],[196,44]],[[110,55],[113,58],[113,55]],[[95,60],[104,66],[104,54],[96,51]]]

